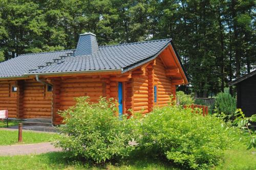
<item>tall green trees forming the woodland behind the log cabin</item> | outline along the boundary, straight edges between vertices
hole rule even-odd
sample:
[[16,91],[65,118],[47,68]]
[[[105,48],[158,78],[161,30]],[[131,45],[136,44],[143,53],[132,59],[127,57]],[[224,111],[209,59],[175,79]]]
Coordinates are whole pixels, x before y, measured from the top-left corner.
[[89,31],[97,35],[99,45],[173,38],[190,78],[186,88],[207,97],[256,68],[254,4],[2,0],[0,48],[7,60],[24,53],[74,49],[79,34]]

